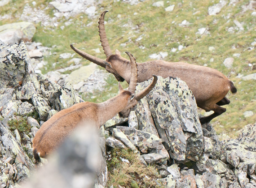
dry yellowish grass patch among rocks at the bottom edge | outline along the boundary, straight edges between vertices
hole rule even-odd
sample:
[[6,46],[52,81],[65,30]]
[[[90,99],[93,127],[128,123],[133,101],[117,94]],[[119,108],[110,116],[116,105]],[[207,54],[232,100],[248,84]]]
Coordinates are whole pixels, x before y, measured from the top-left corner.
[[[154,179],[160,178],[154,166],[144,166],[138,154],[133,153],[129,149],[112,149],[111,160],[107,160],[108,167],[108,182],[114,188],[118,185],[132,188],[156,188],[159,187]],[[122,159],[127,159],[128,162],[123,162]]]

